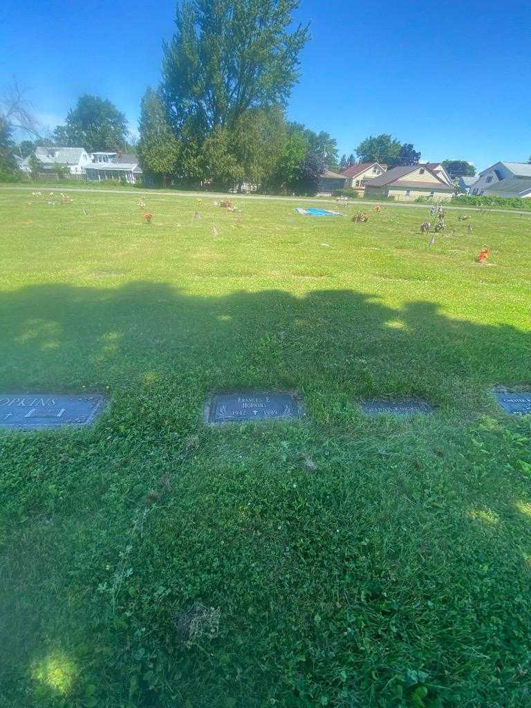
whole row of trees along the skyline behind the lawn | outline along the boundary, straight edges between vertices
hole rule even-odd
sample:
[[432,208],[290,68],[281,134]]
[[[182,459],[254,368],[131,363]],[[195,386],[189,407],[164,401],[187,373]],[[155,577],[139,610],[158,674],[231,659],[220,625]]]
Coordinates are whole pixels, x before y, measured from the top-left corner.
[[[356,161],[417,164],[421,153],[391,135],[370,136],[339,159],[336,140],[285,118],[299,76],[307,26],[294,26],[299,0],[183,0],[176,31],[164,44],[161,83],[142,97],[139,141],[132,144],[125,115],[110,101],[81,96],[64,125],[43,140],[30,125],[21,156],[38,144],[135,151],[155,183],[259,184],[309,192],[326,167]],[[0,109],[0,169],[14,169],[13,131],[28,127],[18,102]],[[33,132],[31,132],[33,130]],[[454,173],[474,173],[447,161]],[[4,166],[4,167],[2,167]]]

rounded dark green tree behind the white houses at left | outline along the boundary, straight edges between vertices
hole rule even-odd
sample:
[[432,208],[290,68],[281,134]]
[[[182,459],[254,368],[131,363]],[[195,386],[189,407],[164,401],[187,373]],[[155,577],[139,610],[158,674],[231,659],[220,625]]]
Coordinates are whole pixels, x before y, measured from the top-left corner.
[[118,151],[127,147],[127,135],[125,115],[108,99],[86,94],[69,110],[65,125],[57,126],[52,139],[88,152]]

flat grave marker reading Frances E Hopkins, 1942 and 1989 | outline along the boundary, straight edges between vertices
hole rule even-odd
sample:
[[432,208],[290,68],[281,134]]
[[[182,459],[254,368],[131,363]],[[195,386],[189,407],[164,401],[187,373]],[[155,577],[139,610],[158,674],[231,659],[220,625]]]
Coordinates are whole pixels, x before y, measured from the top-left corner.
[[287,393],[217,394],[212,396],[205,409],[205,421],[212,426],[219,423],[288,420],[302,418],[303,415],[297,396]]

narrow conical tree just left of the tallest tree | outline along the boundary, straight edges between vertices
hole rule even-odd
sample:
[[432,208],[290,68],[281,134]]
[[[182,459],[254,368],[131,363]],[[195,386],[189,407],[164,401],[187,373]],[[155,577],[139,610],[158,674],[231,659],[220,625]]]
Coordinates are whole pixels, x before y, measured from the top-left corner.
[[178,169],[181,149],[166,117],[159,91],[147,89],[140,103],[138,156],[155,183],[166,185]]

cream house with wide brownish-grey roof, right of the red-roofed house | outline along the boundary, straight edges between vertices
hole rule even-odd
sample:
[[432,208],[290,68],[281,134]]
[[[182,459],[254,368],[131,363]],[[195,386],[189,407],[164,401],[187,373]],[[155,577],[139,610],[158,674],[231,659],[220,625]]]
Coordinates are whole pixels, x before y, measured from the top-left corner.
[[394,167],[365,183],[367,199],[392,197],[399,202],[413,202],[418,197],[428,197],[435,201],[449,201],[453,193],[453,185],[426,165]]

